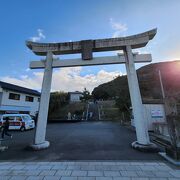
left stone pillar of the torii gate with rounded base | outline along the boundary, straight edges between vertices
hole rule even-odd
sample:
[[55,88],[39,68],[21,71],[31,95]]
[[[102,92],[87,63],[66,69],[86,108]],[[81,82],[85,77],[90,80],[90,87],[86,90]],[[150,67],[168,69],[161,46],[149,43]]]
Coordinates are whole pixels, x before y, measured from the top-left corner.
[[45,61],[46,65],[45,65],[44,77],[42,83],[35,140],[34,140],[34,144],[31,146],[34,150],[45,149],[48,148],[50,145],[50,143],[45,140],[45,136],[46,136],[46,126],[47,126],[47,117],[48,117],[48,108],[49,108],[49,99],[50,99],[50,90],[51,90],[51,81],[52,81],[52,72],[53,72],[52,62],[53,62],[53,54],[52,52],[48,52]]

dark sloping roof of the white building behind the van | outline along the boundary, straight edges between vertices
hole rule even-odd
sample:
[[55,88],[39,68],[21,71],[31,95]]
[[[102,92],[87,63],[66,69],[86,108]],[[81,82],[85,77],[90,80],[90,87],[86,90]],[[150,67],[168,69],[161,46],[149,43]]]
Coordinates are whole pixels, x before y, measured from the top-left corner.
[[14,84],[3,82],[3,81],[0,81],[0,87],[3,89],[12,90],[12,91],[16,91],[19,93],[31,94],[31,95],[35,95],[35,96],[41,95],[41,93],[36,90],[28,89],[25,87],[17,86]]

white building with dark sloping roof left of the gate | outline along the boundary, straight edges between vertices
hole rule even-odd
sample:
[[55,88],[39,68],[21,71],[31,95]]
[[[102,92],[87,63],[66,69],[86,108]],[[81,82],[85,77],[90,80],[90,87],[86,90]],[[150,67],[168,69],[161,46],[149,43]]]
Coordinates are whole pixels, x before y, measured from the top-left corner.
[[0,114],[28,113],[39,109],[40,92],[0,81]]

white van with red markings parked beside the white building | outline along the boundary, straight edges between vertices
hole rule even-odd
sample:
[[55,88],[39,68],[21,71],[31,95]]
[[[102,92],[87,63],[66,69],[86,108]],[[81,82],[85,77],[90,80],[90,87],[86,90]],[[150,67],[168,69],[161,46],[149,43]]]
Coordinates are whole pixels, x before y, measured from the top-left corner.
[[35,128],[35,122],[29,114],[3,114],[0,119],[0,128],[2,128],[6,117],[9,118],[10,130],[25,131]]

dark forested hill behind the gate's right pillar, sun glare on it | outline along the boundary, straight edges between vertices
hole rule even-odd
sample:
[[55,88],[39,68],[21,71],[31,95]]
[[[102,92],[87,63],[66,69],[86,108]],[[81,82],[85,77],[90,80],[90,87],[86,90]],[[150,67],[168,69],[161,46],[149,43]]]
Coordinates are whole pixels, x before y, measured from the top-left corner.
[[[165,94],[180,94],[180,61],[153,63],[137,70],[140,91],[143,98],[161,99],[161,89],[158,71],[160,70]],[[97,99],[123,97],[129,98],[127,76],[116,79],[94,88],[92,94]]]

